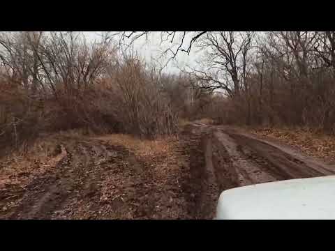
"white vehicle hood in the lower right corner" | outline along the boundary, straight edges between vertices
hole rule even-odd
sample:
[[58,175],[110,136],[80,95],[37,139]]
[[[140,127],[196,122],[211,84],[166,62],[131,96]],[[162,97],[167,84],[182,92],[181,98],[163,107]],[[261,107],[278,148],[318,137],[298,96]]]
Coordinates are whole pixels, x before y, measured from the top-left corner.
[[335,176],[225,190],[218,199],[216,219],[335,219]]

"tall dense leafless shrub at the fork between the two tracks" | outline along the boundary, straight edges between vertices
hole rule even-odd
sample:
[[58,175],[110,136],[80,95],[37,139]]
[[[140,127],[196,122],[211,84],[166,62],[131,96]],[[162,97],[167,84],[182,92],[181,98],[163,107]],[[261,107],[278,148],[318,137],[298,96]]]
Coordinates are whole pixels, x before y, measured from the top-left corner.
[[117,98],[115,114],[124,132],[141,137],[177,132],[177,112],[163,96],[154,69],[147,69],[136,56],[126,56],[110,71],[110,84]]

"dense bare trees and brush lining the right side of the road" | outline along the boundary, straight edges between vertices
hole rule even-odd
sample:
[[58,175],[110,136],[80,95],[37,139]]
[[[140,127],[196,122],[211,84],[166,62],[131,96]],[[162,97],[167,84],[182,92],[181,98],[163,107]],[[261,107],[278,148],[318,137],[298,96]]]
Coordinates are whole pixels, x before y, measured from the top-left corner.
[[332,132],[334,31],[207,32],[198,46],[204,59],[187,71],[225,93],[209,107],[216,119]]

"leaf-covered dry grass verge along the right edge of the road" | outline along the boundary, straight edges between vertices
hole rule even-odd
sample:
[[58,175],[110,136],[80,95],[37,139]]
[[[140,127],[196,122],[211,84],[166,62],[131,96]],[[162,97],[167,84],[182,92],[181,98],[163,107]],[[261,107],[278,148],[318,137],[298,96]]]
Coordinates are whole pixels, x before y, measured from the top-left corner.
[[335,136],[325,135],[306,128],[263,128],[253,129],[261,137],[280,139],[286,144],[297,146],[301,151],[326,161],[335,161]]

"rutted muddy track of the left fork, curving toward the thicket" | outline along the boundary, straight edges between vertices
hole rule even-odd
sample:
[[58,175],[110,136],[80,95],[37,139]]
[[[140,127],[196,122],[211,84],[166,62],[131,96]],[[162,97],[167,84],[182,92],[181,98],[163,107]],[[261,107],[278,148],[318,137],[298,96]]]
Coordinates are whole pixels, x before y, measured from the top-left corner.
[[[87,216],[84,218],[99,218],[103,208],[102,176],[117,171],[117,166],[124,167],[125,162],[134,169],[139,163],[131,157],[123,146],[66,139],[66,155],[52,170],[29,184],[19,206],[8,218],[68,219],[80,218],[80,212]],[[108,201],[108,206],[121,207],[118,200]]]

